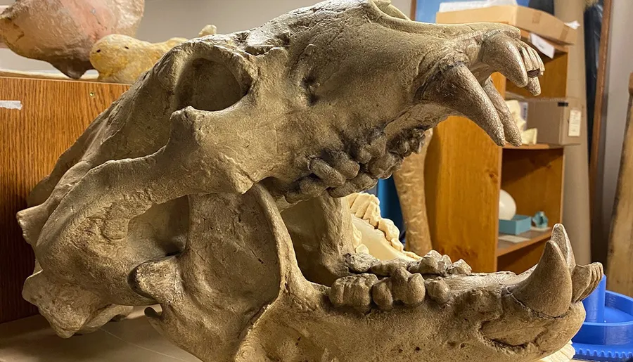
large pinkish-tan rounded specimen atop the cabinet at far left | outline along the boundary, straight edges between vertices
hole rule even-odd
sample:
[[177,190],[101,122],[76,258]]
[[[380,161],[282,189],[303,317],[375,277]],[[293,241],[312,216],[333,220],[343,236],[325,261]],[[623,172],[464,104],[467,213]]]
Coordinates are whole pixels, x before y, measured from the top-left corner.
[[71,78],[92,69],[95,41],[134,36],[144,0],[17,0],[0,15],[0,37],[15,53],[45,60]]

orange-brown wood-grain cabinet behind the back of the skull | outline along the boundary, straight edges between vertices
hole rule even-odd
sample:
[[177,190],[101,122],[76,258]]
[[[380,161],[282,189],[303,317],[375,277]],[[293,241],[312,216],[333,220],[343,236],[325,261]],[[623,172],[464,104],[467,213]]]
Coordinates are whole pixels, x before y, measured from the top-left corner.
[[0,108],[0,323],[37,312],[21,296],[34,261],[15,213],[61,153],[127,88],[0,77],[0,101],[22,104],[21,110]]

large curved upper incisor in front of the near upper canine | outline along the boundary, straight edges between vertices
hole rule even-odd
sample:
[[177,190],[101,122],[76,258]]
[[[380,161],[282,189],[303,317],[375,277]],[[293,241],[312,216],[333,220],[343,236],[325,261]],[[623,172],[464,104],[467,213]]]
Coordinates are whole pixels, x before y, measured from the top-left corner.
[[499,70],[516,86],[528,84],[528,70],[515,44],[506,41],[501,34],[487,39],[482,46],[482,61],[492,69]]

